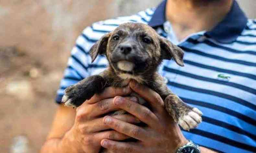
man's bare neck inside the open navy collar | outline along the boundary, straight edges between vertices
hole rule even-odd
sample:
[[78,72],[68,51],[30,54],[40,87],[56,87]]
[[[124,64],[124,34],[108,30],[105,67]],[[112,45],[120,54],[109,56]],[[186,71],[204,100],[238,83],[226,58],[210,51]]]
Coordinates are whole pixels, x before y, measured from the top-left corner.
[[211,30],[222,21],[233,0],[168,0],[166,19],[179,40],[192,33]]

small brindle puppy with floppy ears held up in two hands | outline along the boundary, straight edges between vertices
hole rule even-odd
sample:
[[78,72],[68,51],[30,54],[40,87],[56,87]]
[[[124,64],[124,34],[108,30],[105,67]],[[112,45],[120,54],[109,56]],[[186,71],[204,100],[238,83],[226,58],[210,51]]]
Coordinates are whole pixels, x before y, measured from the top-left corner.
[[[202,122],[202,112],[174,95],[157,73],[157,67],[163,59],[174,59],[179,66],[184,66],[183,54],[182,49],[160,37],[150,26],[124,23],[102,36],[90,49],[92,62],[98,55],[107,56],[108,68],[99,75],[87,77],[66,88],[62,101],[66,106],[78,107],[94,94],[101,93],[105,87],[125,87],[133,79],[156,91],[163,99],[169,115],[183,129],[195,128]],[[141,104],[145,102],[139,99]],[[115,114],[122,113],[125,112],[118,111]]]

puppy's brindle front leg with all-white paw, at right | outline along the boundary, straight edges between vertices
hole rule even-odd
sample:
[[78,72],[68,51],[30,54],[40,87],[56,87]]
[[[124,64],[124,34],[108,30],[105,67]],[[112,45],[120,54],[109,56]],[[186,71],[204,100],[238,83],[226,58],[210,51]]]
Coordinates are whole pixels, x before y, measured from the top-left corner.
[[178,96],[170,94],[165,99],[165,107],[175,122],[184,129],[190,130],[202,122],[203,113],[196,107],[185,104]]

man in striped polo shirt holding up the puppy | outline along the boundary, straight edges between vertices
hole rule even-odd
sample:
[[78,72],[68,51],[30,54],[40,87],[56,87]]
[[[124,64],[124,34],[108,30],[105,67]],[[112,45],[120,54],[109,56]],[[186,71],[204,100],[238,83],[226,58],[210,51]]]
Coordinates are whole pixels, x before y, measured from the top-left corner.
[[[256,21],[248,20],[233,0],[167,0],[157,8],[87,27],[72,50],[58,103],[66,87],[105,68],[106,58],[98,57],[91,64],[88,51],[123,22],[148,24],[185,51],[184,67],[166,60],[159,73],[173,93],[204,113],[203,122],[181,132],[157,93],[131,82],[123,89],[109,87],[77,109],[60,105],[42,153],[97,153],[101,147],[133,153],[255,152]],[[152,110],[131,97],[121,98],[131,90],[144,97]],[[132,115],[104,115],[118,109]],[[140,120],[148,127],[136,126]],[[139,141],[120,141],[130,137]]]

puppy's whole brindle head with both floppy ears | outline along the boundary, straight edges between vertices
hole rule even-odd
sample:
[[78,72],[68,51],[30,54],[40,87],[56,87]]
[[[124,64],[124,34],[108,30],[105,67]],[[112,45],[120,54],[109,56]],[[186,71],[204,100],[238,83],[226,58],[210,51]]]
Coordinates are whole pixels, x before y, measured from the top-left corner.
[[142,23],[125,23],[104,35],[90,50],[92,62],[98,54],[107,56],[117,74],[148,74],[172,57],[183,66],[183,51]]

